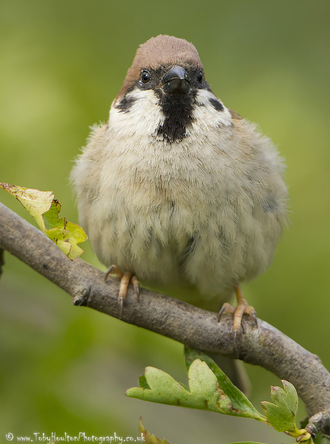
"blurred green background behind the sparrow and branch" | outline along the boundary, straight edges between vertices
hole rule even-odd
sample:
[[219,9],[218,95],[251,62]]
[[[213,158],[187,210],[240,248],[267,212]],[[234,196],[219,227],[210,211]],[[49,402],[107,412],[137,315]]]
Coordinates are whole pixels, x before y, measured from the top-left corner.
[[[244,286],[246,297],[329,368],[329,14],[326,0],[1,0],[0,181],[52,190],[77,221],[72,161],[89,125],[107,120],[137,46],[160,33],[192,41],[214,92],[258,122],[288,166],[292,223],[272,267]],[[5,191],[0,201],[32,222]],[[102,267],[84,248],[83,258]],[[292,441],[251,420],[125,398],[147,365],[185,382],[182,345],[73,307],[18,259],[6,261],[1,442],[8,432],[135,436],[141,415],[173,444]],[[260,405],[279,380],[246,367]]]

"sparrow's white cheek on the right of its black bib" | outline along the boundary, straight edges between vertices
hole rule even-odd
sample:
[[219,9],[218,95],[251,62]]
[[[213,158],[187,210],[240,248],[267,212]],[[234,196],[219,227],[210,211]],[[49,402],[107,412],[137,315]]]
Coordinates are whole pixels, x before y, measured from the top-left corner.
[[196,95],[196,102],[200,106],[196,106],[194,109],[195,121],[198,122],[198,126],[203,124],[207,126],[230,126],[233,124],[232,117],[228,108],[221,102],[224,109],[219,111],[210,102],[210,99],[219,100],[211,91],[207,89],[199,89]]

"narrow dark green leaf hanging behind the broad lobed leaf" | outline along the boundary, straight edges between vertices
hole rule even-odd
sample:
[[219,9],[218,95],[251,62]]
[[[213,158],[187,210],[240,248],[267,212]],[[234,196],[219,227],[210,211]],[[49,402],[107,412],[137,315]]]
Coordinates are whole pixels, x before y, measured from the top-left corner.
[[214,362],[214,360],[210,358],[210,356],[198,350],[185,347],[185,358],[187,371],[189,371],[189,368],[195,359],[200,359],[201,361],[207,363],[208,367],[215,374],[219,386],[221,387],[225,395],[227,395],[230,399],[232,403],[232,408],[237,410],[238,412],[244,412],[244,415],[240,414],[240,416],[266,422],[265,416],[258,412],[258,410],[252,405],[252,403],[248,400],[244,393],[242,393],[241,390],[239,390],[230,381],[228,376],[225,375],[225,373]]

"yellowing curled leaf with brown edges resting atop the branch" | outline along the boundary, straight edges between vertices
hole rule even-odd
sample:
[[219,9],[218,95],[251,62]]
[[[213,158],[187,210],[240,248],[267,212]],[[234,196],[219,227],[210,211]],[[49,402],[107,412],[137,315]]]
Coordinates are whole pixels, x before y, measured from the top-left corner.
[[74,260],[81,255],[83,250],[77,244],[87,239],[86,233],[79,225],[66,221],[64,217],[59,219],[61,204],[54,199],[51,191],[34,190],[5,183],[0,183],[0,187],[21,202],[36,220],[42,232],[55,242],[69,259]]

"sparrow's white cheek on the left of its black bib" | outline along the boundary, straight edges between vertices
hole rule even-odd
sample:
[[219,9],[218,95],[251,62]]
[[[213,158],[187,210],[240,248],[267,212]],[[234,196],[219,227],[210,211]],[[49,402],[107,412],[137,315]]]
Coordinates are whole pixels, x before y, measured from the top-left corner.
[[112,131],[121,135],[152,135],[164,122],[164,115],[158,105],[158,97],[151,90],[135,89],[127,94],[127,98],[135,99],[129,111],[124,112],[110,108],[109,126]]

